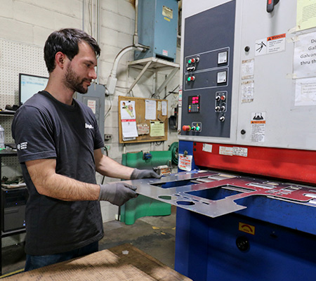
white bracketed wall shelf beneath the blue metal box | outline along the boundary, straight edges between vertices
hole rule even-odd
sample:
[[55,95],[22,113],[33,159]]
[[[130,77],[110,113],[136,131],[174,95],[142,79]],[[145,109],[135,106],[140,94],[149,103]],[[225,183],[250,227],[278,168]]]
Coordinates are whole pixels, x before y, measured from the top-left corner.
[[136,79],[133,81],[133,84],[131,84],[127,93],[129,93],[133,89],[133,87],[138,83],[138,81],[146,71],[158,72],[164,70],[171,70],[171,72],[166,77],[162,85],[159,87],[159,89],[157,89],[157,92],[154,93],[154,95],[159,95],[159,93],[161,93],[164,90],[169,81],[180,69],[180,65],[178,65],[178,63],[172,63],[168,60],[162,60],[159,58],[143,58],[141,60],[133,60],[129,62],[128,65],[129,67],[141,70],[141,72],[140,74],[138,74],[138,77],[136,77]]

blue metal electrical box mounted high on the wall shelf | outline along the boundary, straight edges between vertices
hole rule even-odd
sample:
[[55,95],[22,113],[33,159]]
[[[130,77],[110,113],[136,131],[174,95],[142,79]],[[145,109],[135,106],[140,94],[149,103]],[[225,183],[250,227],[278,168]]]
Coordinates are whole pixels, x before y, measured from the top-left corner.
[[142,0],[138,3],[138,43],[149,46],[136,51],[135,60],[162,58],[176,60],[178,30],[177,0]]

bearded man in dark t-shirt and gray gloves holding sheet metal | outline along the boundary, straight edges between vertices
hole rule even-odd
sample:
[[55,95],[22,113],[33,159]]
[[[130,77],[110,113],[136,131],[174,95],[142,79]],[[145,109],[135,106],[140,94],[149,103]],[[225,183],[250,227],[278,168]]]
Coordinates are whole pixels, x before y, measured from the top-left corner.
[[98,251],[103,237],[98,201],[121,206],[136,197],[136,188],[124,182],[97,185],[96,171],[122,179],[159,177],[103,155],[92,110],[73,99],[96,79],[98,55],[100,47],[85,32],[53,32],[44,47],[46,89],[15,113],[12,133],[29,190],[26,271]]

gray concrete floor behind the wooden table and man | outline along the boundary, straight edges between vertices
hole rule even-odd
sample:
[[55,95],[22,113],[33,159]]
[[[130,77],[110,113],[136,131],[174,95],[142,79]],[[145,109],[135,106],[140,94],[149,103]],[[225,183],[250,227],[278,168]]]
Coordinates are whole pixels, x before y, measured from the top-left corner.
[[[170,268],[174,268],[176,241],[176,208],[170,216],[147,216],[138,218],[131,226],[120,221],[104,223],[105,235],[99,249],[109,249],[119,244],[130,243],[146,254],[153,256]],[[22,270],[25,266],[23,244],[2,249],[2,275]]]

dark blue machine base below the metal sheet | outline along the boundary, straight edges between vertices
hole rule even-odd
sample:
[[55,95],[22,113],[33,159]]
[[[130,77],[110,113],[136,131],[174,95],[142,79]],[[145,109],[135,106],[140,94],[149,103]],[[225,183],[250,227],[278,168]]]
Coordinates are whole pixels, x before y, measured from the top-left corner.
[[[255,234],[239,223],[254,226]],[[249,249],[241,251],[237,238]],[[239,214],[209,218],[177,208],[175,269],[195,281],[312,281],[316,236]]]

